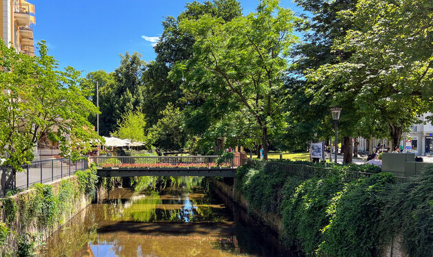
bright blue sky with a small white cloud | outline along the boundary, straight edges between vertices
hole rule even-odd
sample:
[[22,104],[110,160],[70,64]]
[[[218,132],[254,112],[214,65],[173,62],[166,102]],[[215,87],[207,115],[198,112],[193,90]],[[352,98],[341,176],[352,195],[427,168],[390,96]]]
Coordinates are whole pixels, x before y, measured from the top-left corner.
[[[36,9],[35,42],[47,41],[61,67],[73,66],[84,74],[114,71],[126,51],[154,60],[152,43],[162,34],[164,17],[177,17],[191,1],[29,0]],[[243,13],[254,12],[257,3],[241,0]],[[291,0],[281,3],[300,12]]]

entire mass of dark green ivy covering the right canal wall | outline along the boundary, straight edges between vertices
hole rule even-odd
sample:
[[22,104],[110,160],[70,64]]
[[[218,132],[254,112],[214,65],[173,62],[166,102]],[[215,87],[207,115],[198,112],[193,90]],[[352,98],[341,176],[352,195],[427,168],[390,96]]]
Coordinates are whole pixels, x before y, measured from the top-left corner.
[[380,256],[399,235],[409,256],[433,256],[433,167],[404,184],[392,173],[347,180],[347,166],[322,167],[326,175],[302,178],[251,161],[238,168],[236,191],[250,210],[279,215],[282,243],[306,256]]

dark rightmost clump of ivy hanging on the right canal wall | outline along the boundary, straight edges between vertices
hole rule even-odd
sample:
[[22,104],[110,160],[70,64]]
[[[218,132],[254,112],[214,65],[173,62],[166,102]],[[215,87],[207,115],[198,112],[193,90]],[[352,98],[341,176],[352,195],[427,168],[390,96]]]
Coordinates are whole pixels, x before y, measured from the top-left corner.
[[423,175],[398,185],[386,197],[381,213],[382,240],[403,236],[408,256],[433,255],[433,166],[425,168]]

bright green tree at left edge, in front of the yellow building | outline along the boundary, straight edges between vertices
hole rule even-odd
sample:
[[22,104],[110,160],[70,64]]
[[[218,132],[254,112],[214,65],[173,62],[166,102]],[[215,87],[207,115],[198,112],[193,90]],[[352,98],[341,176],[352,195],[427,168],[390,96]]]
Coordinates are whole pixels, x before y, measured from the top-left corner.
[[0,43],[0,149],[4,164],[19,171],[33,159],[33,148],[44,136],[60,141],[63,156],[77,159],[98,138],[87,120],[98,109],[80,86],[80,72],[58,71],[58,63],[38,43],[39,56],[25,56]]

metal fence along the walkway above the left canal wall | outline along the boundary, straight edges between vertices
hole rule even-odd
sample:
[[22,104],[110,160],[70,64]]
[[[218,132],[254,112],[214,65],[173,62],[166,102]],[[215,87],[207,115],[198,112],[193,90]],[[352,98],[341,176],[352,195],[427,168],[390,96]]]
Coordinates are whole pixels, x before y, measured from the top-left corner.
[[88,161],[79,160],[72,162],[67,158],[58,158],[52,160],[38,160],[30,164],[21,166],[23,170],[15,174],[12,178],[12,169],[10,167],[0,167],[0,196],[13,188],[27,189],[36,183],[47,183],[60,178],[74,175],[76,171],[82,171],[88,168]]

